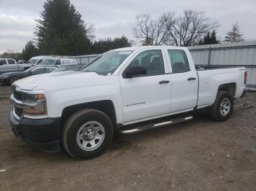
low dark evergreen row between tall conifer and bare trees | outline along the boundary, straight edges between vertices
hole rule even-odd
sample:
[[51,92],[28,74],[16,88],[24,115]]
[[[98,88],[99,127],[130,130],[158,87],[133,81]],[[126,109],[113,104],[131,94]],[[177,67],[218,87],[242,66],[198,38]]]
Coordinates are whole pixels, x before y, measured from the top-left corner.
[[132,42],[127,39],[126,36],[121,36],[121,38],[115,38],[115,39],[99,39],[99,41],[94,42],[92,44],[92,52],[94,53],[102,53],[107,52],[108,50],[121,48],[121,47],[130,47],[132,45]]

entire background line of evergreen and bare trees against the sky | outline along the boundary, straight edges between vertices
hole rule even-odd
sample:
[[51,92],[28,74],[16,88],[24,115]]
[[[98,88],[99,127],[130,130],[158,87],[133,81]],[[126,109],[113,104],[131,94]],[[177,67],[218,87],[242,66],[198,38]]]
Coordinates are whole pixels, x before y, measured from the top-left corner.
[[[47,0],[36,21],[36,39],[27,42],[22,51],[25,60],[34,55],[97,54],[133,44],[126,36],[95,41],[94,26],[82,20],[69,0]],[[180,16],[164,12],[156,20],[150,15],[138,15],[132,30],[143,45],[192,46],[221,42],[216,37],[218,27],[219,24],[206,17],[205,12],[185,10]],[[236,23],[227,33],[225,42],[243,40]]]

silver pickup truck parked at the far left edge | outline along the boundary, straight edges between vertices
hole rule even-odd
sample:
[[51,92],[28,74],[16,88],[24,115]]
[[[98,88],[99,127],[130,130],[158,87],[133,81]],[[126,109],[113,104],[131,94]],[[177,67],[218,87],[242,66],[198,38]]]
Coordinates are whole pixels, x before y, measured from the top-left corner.
[[0,58],[0,74],[10,71],[24,71],[30,67],[31,64],[17,63],[13,58]]

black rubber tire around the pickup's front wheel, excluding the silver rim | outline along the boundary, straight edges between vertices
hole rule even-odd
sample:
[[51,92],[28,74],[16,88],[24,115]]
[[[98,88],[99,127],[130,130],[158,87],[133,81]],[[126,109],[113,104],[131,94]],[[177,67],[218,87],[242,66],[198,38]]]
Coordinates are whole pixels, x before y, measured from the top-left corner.
[[[102,124],[105,129],[105,138],[102,143],[94,150],[87,151],[81,149],[78,145],[77,136],[78,130],[86,122],[96,121]],[[110,118],[103,112],[96,109],[83,109],[75,114],[72,114],[67,122],[65,122],[62,141],[64,148],[72,157],[79,157],[82,159],[89,159],[97,157],[102,154],[102,152],[107,149],[113,139],[113,124]]]

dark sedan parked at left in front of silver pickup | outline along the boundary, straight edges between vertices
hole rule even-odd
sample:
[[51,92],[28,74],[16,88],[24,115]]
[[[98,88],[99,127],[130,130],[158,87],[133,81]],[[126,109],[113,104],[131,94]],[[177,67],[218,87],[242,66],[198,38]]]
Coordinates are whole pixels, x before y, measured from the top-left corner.
[[56,66],[33,66],[26,71],[7,72],[0,75],[0,82],[11,85],[18,79],[30,77],[36,74],[45,74],[56,69]]

